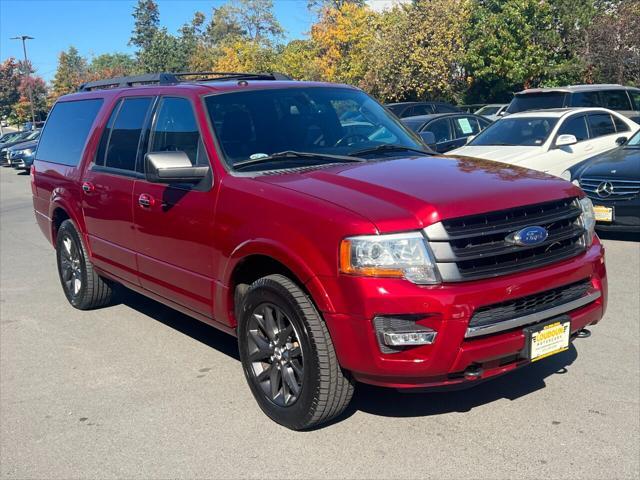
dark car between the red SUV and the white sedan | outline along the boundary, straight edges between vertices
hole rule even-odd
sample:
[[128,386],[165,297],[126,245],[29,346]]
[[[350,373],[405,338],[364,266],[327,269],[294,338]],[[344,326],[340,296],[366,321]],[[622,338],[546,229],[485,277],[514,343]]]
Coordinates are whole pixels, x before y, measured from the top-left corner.
[[491,120],[472,113],[437,113],[403,118],[402,123],[420,135],[431,149],[445,153],[463,146],[467,138],[491,125]]

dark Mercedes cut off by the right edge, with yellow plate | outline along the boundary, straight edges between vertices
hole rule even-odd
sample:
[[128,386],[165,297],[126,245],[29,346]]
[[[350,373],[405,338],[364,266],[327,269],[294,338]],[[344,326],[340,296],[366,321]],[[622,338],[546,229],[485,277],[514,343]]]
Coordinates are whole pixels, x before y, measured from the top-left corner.
[[591,199],[596,228],[640,232],[640,132],[614,150],[567,170]]

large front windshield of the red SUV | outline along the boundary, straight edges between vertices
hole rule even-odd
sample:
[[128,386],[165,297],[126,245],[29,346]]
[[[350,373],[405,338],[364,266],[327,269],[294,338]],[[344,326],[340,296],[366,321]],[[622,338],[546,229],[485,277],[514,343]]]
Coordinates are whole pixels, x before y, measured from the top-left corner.
[[[232,167],[289,151],[347,156],[380,145],[425,149],[393,115],[359,90],[236,91],[205,97],[205,104],[225,160]],[[407,156],[407,152],[399,148],[376,155]],[[252,170],[284,168],[301,160],[280,156],[255,163]],[[308,164],[309,157],[304,161]]]

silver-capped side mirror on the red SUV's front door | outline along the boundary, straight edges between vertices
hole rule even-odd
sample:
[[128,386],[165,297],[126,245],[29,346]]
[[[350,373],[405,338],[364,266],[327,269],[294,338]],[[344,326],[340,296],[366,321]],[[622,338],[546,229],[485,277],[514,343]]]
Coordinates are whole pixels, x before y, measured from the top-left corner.
[[194,167],[184,152],[151,152],[144,158],[153,183],[198,183],[209,173],[209,167]]

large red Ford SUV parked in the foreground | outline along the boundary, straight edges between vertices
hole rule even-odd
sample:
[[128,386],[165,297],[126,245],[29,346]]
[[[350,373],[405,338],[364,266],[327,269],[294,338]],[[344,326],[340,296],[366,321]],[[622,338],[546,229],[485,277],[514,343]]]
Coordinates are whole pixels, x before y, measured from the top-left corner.
[[564,180],[433,155],[344,85],[171,74],[58,100],[32,171],[65,295],[124,285],[237,336],[276,422],[356,382],[472,385],[602,317],[603,247]]

